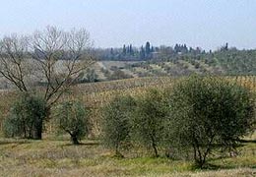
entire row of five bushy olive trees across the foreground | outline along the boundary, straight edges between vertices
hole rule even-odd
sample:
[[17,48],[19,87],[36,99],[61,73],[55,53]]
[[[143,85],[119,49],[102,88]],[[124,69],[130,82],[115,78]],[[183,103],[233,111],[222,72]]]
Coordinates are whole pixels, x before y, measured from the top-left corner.
[[[139,146],[156,157],[193,158],[202,168],[213,151],[235,151],[240,139],[255,130],[254,98],[249,89],[224,79],[198,76],[172,89],[117,96],[101,109],[102,142],[118,156],[123,156],[122,149]],[[45,106],[43,96],[22,93],[4,121],[5,135],[40,136],[34,134],[42,132]],[[84,103],[65,101],[53,110],[56,128],[69,134],[74,145],[90,133],[90,111]]]

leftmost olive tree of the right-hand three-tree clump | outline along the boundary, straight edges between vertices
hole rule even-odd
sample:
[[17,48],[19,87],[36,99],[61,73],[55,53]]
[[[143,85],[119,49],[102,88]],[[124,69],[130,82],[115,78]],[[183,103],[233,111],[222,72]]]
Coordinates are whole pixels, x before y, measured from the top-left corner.
[[120,96],[102,109],[103,144],[113,148],[118,156],[123,156],[120,148],[124,148],[130,141],[130,119],[134,107],[135,101],[131,96]]

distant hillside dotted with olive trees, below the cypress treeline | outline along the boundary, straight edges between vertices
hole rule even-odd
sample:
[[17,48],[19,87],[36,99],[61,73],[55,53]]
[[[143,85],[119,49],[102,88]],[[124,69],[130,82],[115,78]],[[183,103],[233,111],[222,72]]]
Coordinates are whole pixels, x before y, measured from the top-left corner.
[[206,75],[256,75],[256,50],[220,50],[201,53],[158,53],[150,60],[133,58],[98,61],[99,81],[140,77]]

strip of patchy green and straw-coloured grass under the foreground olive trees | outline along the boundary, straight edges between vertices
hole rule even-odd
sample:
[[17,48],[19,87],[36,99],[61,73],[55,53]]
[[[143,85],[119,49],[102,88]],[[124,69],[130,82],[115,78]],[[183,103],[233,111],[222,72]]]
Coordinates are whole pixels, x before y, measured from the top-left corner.
[[[250,176],[256,173],[256,144],[244,144],[236,157],[212,159],[215,170],[193,163],[153,158],[145,153],[113,157],[98,141],[72,146],[67,139],[0,139],[0,176]],[[251,175],[252,176],[252,175]]]

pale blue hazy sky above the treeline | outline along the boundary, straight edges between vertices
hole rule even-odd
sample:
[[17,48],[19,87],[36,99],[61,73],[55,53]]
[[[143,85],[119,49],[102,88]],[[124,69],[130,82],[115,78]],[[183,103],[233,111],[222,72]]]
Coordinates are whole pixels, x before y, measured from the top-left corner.
[[85,28],[95,47],[256,48],[256,0],[0,0],[0,36]]

